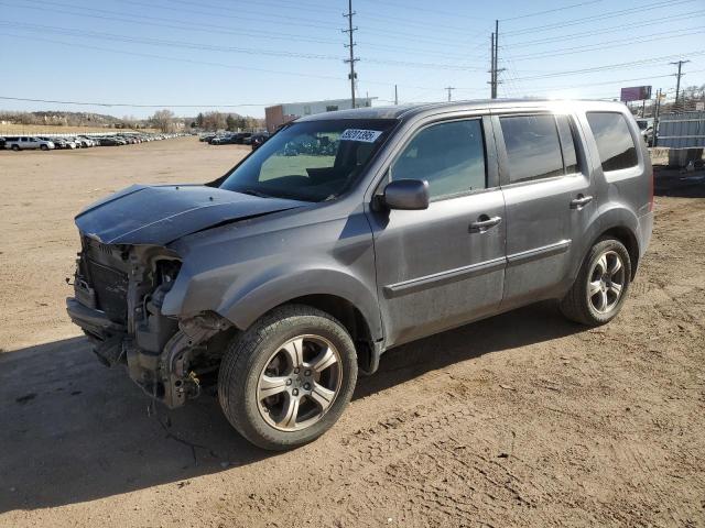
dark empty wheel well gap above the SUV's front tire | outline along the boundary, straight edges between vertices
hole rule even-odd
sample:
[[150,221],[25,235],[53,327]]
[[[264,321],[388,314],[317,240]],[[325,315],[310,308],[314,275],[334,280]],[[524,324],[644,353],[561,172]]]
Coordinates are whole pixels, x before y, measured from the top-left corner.
[[365,316],[352,302],[335,295],[316,294],[296,297],[285,304],[311,306],[335,317],[352,338],[359,367],[366,372],[371,370],[375,350],[372,334]]

